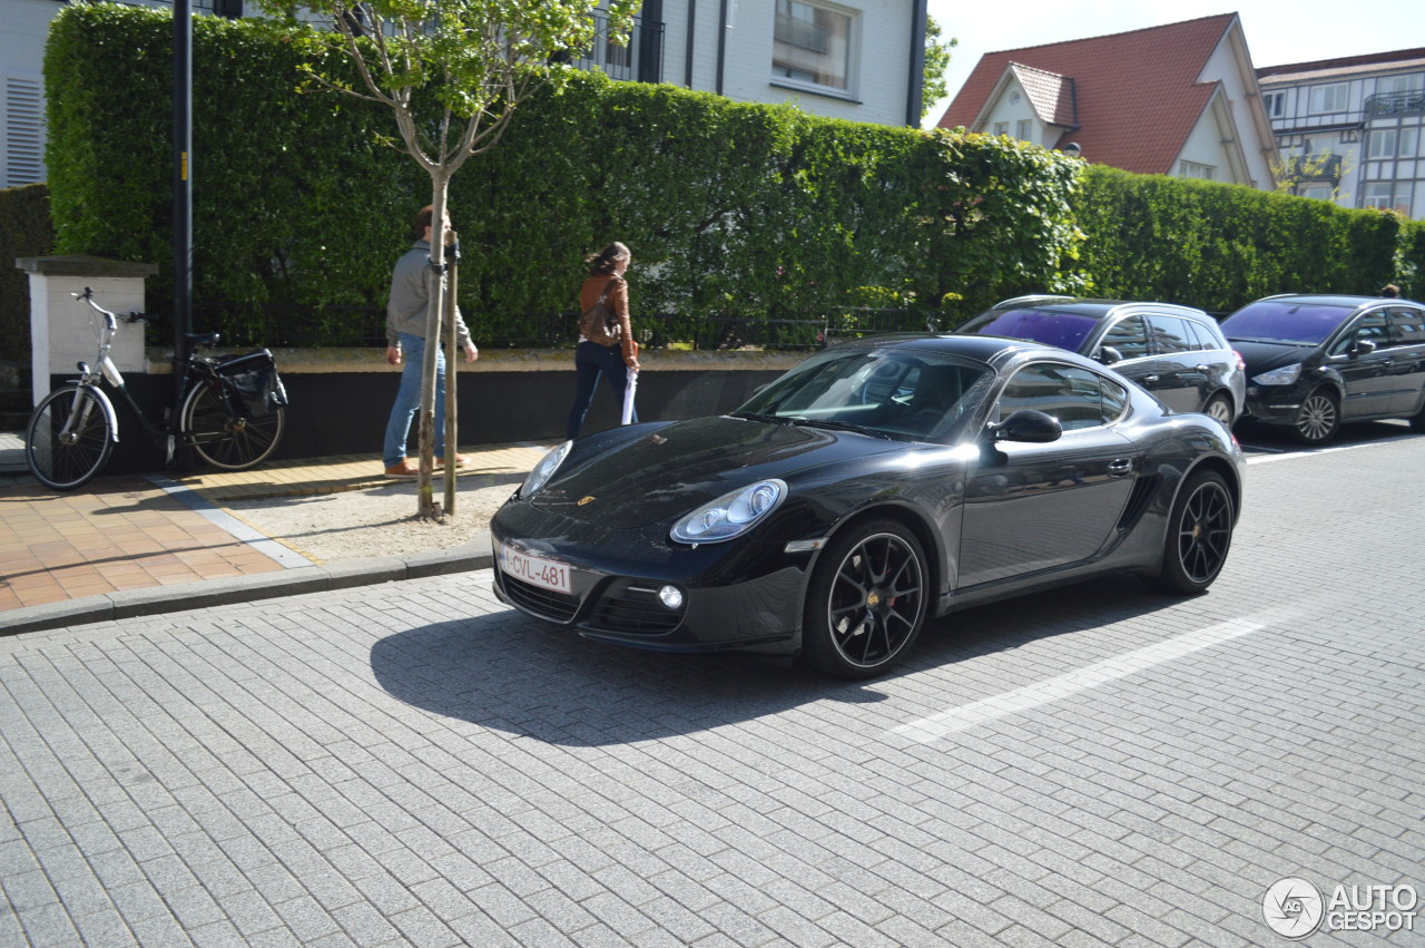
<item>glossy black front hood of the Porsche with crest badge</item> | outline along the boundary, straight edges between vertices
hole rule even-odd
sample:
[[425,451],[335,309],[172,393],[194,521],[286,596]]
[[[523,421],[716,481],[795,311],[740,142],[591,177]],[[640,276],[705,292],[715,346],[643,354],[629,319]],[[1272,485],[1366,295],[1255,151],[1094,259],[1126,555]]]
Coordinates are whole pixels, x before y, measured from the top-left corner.
[[695,418],[591,458],[573,458],[530,503],[574,520],[636,529],[681,517],[765,478],[903,449],[905,442],[751,419]]

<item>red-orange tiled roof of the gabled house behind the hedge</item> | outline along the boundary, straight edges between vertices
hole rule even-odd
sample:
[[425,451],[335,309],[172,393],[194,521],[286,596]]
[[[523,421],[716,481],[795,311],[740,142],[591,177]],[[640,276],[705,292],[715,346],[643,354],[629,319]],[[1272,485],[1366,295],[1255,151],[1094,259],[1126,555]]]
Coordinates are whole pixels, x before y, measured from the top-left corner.
[[[1126,171],[1167,174],[1207,107],[1216,83],[1200,83],[1213,50],[1237,21],[1224,13],[1186,23],[986,53],[939,125],[969,127],[1005,70],[1032,67],[1073,80],[1083,157]],[[1062,113],[1057,113],[1062,114]]]

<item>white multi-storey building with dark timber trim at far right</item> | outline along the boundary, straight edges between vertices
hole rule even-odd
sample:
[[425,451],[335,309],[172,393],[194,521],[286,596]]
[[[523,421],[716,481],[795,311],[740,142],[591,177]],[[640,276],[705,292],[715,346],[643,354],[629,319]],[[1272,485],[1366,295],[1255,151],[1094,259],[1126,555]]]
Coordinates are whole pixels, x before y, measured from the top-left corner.
[[1257,76],[1292,191],[1425,218],[1425,48]]

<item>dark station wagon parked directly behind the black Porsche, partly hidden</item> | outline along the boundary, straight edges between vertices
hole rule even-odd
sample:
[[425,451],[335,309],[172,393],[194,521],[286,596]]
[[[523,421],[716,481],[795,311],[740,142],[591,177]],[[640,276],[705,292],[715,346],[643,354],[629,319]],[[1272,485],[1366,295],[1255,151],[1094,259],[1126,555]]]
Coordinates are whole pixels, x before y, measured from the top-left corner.
[[1032,339],[1087,355],[1177,412],[1231,425],[1245,403],[1243,361],[1217,322],[1190,306],[1073,297],[1017,297],[956,332]]

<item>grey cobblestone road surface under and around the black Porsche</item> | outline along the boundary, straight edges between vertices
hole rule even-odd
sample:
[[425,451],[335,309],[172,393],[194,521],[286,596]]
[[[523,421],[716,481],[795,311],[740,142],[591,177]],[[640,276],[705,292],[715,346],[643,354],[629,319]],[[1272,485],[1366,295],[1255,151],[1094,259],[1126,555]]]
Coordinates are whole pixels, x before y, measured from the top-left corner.
[[3,639],[0,944],[1287,944],[1282,877],[1425,888],[1422,466],[1253,463],[1207,596],[978,609],[864,684],[489,572]]

